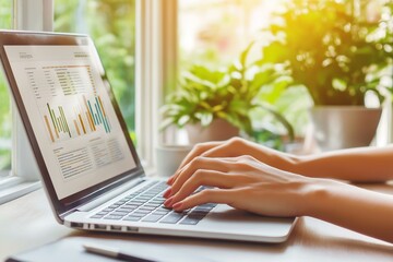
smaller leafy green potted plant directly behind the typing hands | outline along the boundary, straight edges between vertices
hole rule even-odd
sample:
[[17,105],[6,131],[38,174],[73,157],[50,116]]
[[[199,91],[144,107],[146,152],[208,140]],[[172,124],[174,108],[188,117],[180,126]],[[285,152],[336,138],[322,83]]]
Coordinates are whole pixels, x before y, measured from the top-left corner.
[[293,138],[290,123],[273,108],[254,99],[264,84],[284,79],[273,66],[248,63],[251,46],[225,69],[194,64],[183,72],[179,88],[166,97],[162,107],[162,129],[171,124],[186,127],[192,144],[226,140],[239,135],[239,131],[252,136],[250,111],[263,108],[273,114]]

